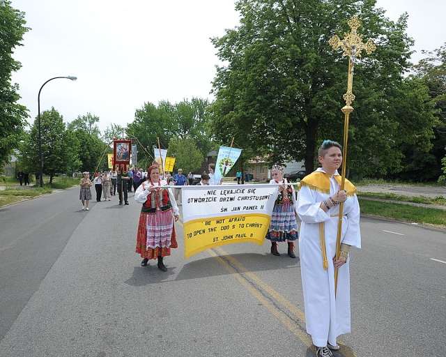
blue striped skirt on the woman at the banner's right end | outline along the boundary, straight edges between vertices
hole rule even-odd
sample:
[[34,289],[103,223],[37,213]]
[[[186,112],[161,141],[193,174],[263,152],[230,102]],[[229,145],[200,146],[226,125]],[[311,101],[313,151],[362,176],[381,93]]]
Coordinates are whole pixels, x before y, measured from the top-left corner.
[[294,205],[284,202],[272,208],[270,228],[266,239],[272,242],[295,241],[298,239],[298,222],[295,220]]

